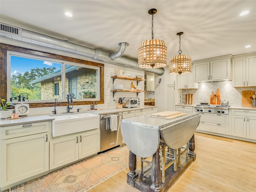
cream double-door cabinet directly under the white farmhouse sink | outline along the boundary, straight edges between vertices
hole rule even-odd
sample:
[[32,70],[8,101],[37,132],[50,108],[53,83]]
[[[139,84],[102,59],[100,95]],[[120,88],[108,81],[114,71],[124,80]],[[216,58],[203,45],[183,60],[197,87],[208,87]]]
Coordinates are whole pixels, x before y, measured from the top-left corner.
[[50,169],[100,152],[100,129],[62,136],[50,141]]

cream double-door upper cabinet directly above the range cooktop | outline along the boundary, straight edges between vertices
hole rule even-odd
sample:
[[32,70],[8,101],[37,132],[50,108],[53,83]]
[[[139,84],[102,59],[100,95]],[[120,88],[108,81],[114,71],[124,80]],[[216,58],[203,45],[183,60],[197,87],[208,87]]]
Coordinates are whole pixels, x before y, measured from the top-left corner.
[[194,62],[195,81],[232,80],[231,56]]

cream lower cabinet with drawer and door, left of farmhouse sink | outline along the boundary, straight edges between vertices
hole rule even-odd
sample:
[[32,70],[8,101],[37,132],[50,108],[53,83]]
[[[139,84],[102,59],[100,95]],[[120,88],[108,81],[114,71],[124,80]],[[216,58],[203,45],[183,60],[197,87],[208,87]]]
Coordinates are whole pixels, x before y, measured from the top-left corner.
[[47,121],[1,127],[2,191],[49,170],[50,124]]

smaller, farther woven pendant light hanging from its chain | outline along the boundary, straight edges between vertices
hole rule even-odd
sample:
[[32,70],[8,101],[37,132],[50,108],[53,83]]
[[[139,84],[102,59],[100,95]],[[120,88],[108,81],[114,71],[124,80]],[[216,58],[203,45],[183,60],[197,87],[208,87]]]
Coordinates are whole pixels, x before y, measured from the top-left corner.
[[[183,32],[178,32],[177,35],[181,36]],[[188,74],[191,73],[191,58],[189,55],[182,55],[181,50],[178,55],[170,59],[169,74]]]

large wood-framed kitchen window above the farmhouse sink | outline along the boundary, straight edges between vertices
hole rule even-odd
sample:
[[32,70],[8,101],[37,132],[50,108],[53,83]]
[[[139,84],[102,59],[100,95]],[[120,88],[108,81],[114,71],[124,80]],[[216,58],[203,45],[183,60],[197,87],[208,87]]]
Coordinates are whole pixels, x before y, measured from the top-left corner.
[[30,107],[104,103],[104,64],[1,44],[1,98],[24,100]]

